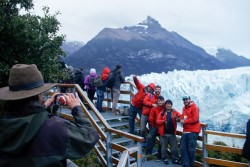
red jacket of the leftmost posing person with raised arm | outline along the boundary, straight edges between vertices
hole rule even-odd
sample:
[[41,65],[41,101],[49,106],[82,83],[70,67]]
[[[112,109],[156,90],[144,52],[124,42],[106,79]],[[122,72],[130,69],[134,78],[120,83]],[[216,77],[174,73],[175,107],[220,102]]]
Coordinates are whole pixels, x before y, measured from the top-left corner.
[[142,108],[143,99],[147,95],[146,92],[144,91],[145,86],[140,83],[137,77],[133,77],[133,79],[138,92],[132,98],[132,105],[136,108]]

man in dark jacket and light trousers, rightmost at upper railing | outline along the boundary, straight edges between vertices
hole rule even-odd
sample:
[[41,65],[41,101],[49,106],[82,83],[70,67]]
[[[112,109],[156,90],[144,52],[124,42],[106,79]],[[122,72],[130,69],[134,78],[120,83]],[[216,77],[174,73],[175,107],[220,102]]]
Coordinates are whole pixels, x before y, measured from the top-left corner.
[[114,84],[111,88],[112,90],[112,114],[118,115],[119,112],[116,111],[117,103],[120,97],[121,83],[125,82],[124,75],[122,73],[122,66],[116,65],[115,69],[112,71],[114,75]]

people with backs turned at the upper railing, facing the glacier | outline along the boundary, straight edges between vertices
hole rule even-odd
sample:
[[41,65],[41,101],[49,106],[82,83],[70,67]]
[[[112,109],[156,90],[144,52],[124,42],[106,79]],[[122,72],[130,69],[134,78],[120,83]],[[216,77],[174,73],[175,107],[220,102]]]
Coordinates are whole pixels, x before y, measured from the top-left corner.
[[[72,83],[78,84],[82,90],[86,91],[88,98],[92,103],[96,93],[96,108],[99,112],[104,112],[102,108],[104,93],[106,92],[107,87],[110,88],[112,92],[112,114],[120,114],[119,110],[117,110],[117,104],[120,97],[121,83],[125,82],[121,65],[116,65],[113,70],[104,67],[102,73],[99,75],[97,74],[96,69],[91,68],[86,77],[84,77],[83,69],[79,68],[72,75],[74,76],[72,77]],[[97,78],[101,80],[101,84],[96,84],[97,81],[95,80],[97,80]]]

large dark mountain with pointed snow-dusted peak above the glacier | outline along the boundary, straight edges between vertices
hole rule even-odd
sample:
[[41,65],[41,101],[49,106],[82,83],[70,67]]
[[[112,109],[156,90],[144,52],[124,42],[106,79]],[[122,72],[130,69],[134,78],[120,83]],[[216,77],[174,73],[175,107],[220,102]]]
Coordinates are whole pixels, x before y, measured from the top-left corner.
[[152,17],[135,26],[104,28],[65,61],[97,71],[121,64],[125,75],[228,67],[176,32],[162,28]]

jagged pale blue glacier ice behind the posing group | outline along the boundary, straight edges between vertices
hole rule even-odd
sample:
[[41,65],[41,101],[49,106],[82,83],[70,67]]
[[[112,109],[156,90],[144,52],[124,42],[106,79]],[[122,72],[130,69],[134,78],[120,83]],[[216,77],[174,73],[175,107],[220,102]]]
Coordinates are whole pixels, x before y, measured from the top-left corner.
[[[228,70],[172,71],[138,76],[145,85],[162,87],[165,99],[182,111],[181,96],[188,94],[200,108],[200,120],[208,129],[245,133],[250,119],[250,67]],[[131,80],[131,77],[127,79]]]

